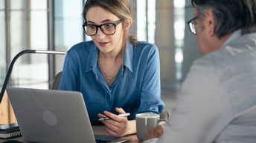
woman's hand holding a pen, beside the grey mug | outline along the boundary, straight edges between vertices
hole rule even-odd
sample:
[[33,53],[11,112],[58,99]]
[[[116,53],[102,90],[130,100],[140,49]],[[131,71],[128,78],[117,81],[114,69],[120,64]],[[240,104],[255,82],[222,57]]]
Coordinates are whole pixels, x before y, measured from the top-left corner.
[[[115,110],[121,114],[125,113],[123,108],[116,107]],[[135,120],[128,121],[127,117],[121,117],[110,113],[109,111],[104,111],[104,114],[108,116],[109,120],[103,120],[105,124],[104,129],[112,136],[125,136],[127,134],[136,133]],[[100,118],[106,117],[105,115],[99,113],[97,116]]]

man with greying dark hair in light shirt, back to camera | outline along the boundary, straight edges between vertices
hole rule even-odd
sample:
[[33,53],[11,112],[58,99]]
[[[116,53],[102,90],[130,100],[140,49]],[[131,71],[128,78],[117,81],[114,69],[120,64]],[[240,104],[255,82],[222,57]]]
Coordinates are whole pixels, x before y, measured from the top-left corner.
[[256,1],[191,0],[188,21],[202,57],[164,125],[144,143],[256,142]]

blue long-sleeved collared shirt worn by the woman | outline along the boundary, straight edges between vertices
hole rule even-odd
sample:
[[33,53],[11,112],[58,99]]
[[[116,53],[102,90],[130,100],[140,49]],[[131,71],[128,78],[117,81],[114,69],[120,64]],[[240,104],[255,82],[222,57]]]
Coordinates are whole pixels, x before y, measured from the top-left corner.
[[100,124],[97,114],[108,110],[116,113],[122,107],[131,113],[161,113],[159,50],[155,44],[138,41],[127,44],[124,61],[109,88],[97,64],[98,49],[93,41],[74,45],[68,50],[60,82],[60,90],[83,93],[92,124]]

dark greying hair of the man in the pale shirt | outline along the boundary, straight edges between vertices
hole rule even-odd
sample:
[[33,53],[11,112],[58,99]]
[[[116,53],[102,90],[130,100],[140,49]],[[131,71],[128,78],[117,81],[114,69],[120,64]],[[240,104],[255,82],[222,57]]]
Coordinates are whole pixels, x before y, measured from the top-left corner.
[[199,16],[213,10],[216,34],[221,37],[242,29],[242,33],[256,32],[256,0],[191,0]]

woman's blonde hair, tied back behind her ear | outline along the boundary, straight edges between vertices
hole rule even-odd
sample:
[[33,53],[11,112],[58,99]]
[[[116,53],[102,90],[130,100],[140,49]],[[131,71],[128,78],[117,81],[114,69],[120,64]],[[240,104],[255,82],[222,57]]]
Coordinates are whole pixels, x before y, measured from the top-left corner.
[[[113,13],[120,19],[123,19],[123,26],[127,24],[127,20],[132,21],[131,14],[131,4],[129,0],[87,0],[83,8],[83,18],[86,20],[86,13],[91,7],[101,7],[104,10]],[[131,43],[135,44],[138,39],[136,36],[129,36],[129,31],[124,31],[123,45],[125,41],[129,40]]]

